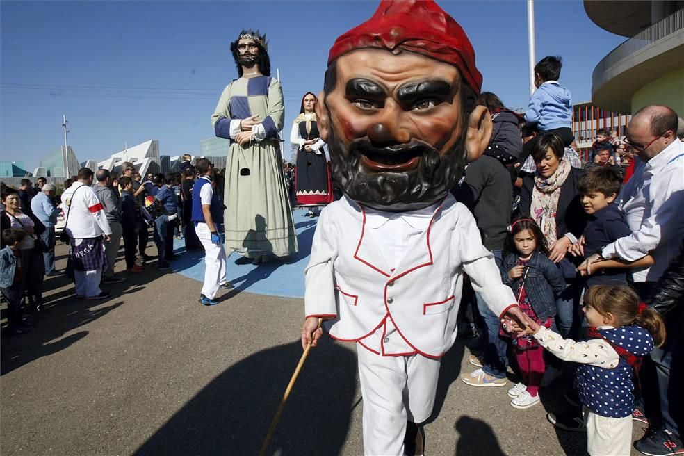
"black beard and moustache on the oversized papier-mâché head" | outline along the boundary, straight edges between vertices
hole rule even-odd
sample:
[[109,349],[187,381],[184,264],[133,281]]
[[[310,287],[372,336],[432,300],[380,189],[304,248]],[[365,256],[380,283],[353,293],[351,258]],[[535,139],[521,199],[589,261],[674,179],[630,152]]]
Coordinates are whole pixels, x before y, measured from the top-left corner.
[[[402,172],[369,172],[361,165],[361,150],[382,148],[368,140],[343,145],[330,130],[328,149],[332,159],[332,177],[345,194],[359,204],[379,211],[405,212],[423,209],[446,197],[461,179],[466,164],[465,133],[455,147],[443,155],[424,142],[414,141],[406,149],[418,148],[418,166]],[[387,154],[401,153],[394,145]]]

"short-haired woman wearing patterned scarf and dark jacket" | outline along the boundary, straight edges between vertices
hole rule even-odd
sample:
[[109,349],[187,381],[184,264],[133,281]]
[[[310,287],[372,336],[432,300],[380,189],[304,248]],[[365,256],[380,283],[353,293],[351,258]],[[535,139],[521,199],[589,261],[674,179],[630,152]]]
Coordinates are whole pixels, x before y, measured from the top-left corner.
[[565,278],[567,288],[557,300],[556,323],[561,334],[567,337],[578,335],[582,291],[575,265],[570,262],[567,252],[582,235],[587,215],[577,190],[577,181],[584,171],[572,168],[563,155],[564,144],[560,137],[551,133],[539,138],[532,149],[537,170],[523,179],[519,211],[542,228],[548,243],[548,258],[556,263]]

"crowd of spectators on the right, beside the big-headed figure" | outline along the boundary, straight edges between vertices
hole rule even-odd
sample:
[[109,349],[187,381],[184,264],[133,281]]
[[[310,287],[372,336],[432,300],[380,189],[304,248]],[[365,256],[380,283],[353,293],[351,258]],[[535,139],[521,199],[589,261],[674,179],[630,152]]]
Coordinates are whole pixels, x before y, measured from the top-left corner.
[[[482,93],[494,133],[485,155],[468,165],[453,190],[473,211],[482,242],[535,334],[504,332],[475,293],[464,316],[482,350],[469,358],[476,369],[461,380],[506,386],[511,366],[520,379],[507,391],[511,406],[526,409],[539,404],[540,388],[560,378],[571,412],[549,413],[548,420],[588,432],[590,454],[629,454],[633,419],[649,425],[637,450],[678,454],[684,403],[674,386],[684,366],[682,122],[667,106],[646,106],[633,115],[624,139],[599,129],[583,164],[572,136],[555,129],[571,121],[569,91],[557,82],[560,59],[545,58],[535,72],[539,89],[524,117]],[[551,91],[553,97],[535,101],[539,92]],[[544,132],[545,113],[557,120],[562,112],[564,123]],[[674,296],[672,275],[680,281]],[[634,385],[640,388],[633,394]]]

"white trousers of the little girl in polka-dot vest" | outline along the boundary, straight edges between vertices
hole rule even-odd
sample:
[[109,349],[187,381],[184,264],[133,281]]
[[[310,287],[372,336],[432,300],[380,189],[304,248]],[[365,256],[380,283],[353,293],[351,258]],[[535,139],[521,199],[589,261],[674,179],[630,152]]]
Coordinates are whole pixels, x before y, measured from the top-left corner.
[[632,416],[609,418],[583,408],[590,456],[629,456],[632,452]]

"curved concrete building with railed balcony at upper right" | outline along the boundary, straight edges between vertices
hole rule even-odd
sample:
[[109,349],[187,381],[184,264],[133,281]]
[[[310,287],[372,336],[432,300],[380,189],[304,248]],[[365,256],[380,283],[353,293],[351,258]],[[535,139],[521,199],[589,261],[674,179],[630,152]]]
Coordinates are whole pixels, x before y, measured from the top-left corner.
[[684,1],[585,0],[589,19],[628,38],[594,68],[592,101],[618,113],[665,104],[684,117]]

